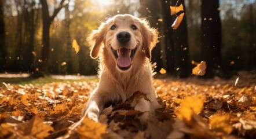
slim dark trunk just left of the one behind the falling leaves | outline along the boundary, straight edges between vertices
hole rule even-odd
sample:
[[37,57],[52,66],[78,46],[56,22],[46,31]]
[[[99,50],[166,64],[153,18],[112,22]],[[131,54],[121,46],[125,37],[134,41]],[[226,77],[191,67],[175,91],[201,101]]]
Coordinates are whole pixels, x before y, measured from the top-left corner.
[[161,1],[163,14],[163,35],[166,53],[166,71],[173,75],[174,72],[174,45],[173,45],[173,29],[171,28],[170,0]]

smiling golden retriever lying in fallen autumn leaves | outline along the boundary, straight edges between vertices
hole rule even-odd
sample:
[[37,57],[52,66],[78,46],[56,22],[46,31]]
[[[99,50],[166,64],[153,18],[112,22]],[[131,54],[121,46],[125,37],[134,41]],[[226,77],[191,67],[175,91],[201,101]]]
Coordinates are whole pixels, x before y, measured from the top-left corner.
[[154,114],[159,107],[152,86],[151,49],[158,31],[148,21],[130,14],[116,15],[100,25],[87,38],[90,55],[99,59],[100,82],[92,92],[83,115],[98,122],[106,104],[125,102],[134,92],[142,92],[135,110]]

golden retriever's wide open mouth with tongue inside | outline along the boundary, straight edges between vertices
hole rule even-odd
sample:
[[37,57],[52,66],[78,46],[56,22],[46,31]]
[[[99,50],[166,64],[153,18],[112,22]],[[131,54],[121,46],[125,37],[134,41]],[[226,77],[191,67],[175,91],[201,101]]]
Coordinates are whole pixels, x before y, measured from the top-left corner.
[[135,49],[127,49],[125,47],[122,47],[118,50],[114,50],[111,47],[111,50],[116,58],[116,61],[118,63],[118,68],[126,71],[131,67],[131,61],[133,60],[133,57],[136,53],[137,47]]

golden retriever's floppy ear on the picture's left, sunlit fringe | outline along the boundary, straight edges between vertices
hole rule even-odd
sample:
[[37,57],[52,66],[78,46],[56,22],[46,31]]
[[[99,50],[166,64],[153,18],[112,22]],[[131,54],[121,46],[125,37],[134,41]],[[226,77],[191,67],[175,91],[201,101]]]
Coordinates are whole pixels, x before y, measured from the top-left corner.
[[92,58],[97,58],[100,54],[100,49],[105,39],[104,36],[106,33],[106,26],[107,23],[102,23],[100,27],[98,27],[98,30],[92,31],[92,33],[87,37],[87,42],[89,43],[91,49],[90,56]]

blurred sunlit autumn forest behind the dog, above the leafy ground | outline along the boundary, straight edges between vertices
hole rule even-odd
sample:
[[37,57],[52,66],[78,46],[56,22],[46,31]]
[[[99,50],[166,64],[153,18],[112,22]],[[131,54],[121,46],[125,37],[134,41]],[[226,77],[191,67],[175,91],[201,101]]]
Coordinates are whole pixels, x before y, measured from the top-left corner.
[[[107,17],[129,13],[158,28],[155,71],[191,75],[207,63],[206,77],[256,68],[254,0],[180,0],[185,17],[177,30],[170,5],[177,0],[0,0],[0,72],[94,75],[86,36]],[[49,35],[49,36],[48,36]],[[80,51],[76,54],[72,41]]]

